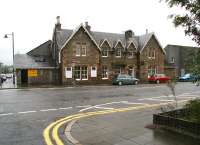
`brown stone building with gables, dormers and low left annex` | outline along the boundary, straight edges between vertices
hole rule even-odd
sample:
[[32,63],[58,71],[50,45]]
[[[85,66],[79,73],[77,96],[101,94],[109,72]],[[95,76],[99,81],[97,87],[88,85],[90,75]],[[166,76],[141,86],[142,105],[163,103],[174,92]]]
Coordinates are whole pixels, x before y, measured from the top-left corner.
[[76,29],[61,28],[60,17],[49,40],[26,54],[16,54],[18,84],[110,84],[117,74],[147,81],[164,73],[165,51],[154,33],[136,36],[92,31],[86,22]]

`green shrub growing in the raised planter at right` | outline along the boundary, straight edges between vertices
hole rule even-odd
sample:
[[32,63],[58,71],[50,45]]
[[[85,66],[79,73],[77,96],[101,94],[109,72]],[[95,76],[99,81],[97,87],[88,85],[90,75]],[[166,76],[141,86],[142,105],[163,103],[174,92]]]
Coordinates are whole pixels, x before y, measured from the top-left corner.
[[185,107],[190,110],[189,115],[185,119],[200,123],[200,100],[192,100]]

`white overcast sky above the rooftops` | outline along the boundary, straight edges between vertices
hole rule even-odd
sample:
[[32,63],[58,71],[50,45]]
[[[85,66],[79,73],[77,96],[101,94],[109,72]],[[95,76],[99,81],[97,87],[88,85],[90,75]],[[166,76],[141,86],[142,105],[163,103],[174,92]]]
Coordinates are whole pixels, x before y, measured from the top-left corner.
[[[91,29],[123,33],[132,29],[142,35],[146,29],[155,32],[161,45],[196,46],[174,28],[168,15],[181,12],[170,9],[160,0],[2,0],[0,2],[0,62],[12,64],[12,39],[4,34],[14,32],[15,53],[26,53],[51,39],[56,16],[62,28],[74,29],[88,21]],[[164,0],[165,1],[165,0]]]

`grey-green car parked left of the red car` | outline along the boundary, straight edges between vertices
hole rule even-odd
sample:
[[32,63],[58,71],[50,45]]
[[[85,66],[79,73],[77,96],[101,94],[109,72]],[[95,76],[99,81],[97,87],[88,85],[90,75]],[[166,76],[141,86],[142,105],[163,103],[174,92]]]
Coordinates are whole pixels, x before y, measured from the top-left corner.
[[119,74],[115,76],[112,80],[113,85],[137,85],[139,82],[139,79],[134,78],[127,74]]

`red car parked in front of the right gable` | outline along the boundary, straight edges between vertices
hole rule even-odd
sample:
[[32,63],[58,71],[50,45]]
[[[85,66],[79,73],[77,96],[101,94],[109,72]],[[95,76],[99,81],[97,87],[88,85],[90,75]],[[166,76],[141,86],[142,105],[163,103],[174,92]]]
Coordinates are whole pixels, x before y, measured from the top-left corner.
[[165,74],[154,74],[154,75],[148,77],[149,82],[153,82],[156,84],[166,83],[169,80],[170,80],[170,78],[168,76],[166,76]]

